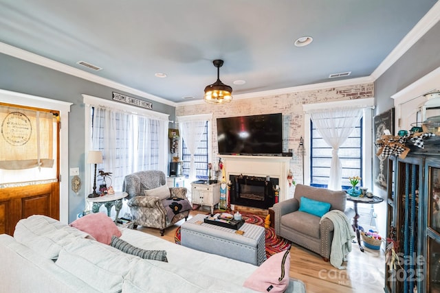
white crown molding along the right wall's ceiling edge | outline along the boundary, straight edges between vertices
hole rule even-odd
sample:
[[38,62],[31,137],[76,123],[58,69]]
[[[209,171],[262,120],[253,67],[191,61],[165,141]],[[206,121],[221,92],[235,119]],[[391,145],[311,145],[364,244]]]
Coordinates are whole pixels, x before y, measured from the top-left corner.
[[440,20],[440,1],[434,4],[421,20],[412,27],[412,30],[401,39],[400,43],[391,51],[380,65],[371,73],[373,80],[380,78],[401,56],[403,56],[410,47],[430,30]]

